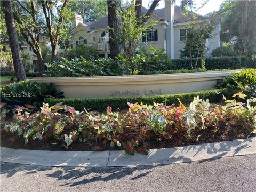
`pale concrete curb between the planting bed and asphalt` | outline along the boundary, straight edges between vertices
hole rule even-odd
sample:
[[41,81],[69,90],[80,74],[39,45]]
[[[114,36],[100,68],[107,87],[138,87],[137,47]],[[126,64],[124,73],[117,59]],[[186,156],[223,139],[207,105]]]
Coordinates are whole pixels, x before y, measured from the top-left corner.
[[256,137],[185,147],[150,149],[148,155],[125,151],[45,151],[0,147],[2,162],[56,167],[161,165],[256,154]]

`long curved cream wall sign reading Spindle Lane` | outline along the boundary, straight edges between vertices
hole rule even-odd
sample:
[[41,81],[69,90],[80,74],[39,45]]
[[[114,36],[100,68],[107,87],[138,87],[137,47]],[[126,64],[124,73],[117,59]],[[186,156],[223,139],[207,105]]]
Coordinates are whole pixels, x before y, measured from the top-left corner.
[[106,77],[44,77],[31,81],[54,83],[66,98],[134,97],[212,89],[231,71]]

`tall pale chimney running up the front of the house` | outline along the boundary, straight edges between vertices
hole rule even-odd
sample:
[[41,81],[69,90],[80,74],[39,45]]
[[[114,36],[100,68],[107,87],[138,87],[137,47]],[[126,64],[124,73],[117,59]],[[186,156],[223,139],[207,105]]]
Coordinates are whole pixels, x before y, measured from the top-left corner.
[[164,1],[164,16],[165,20],[169,22],[166,26],[166,54],[169,58],[174,59],[174,2],[173,0]]

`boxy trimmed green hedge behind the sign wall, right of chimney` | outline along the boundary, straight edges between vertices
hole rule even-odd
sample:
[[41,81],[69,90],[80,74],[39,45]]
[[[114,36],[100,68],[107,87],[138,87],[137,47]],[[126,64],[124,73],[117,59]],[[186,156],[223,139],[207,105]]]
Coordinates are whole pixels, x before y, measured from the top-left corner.
[[[170,69],[189,69],[190,59],[173,59]],[[196,58],[192,59],[195,68]],[[198,59],[197,68],[201,67],[201,59]],[[210,57],[205,59],[206,69],[241,69],[240,57]]]

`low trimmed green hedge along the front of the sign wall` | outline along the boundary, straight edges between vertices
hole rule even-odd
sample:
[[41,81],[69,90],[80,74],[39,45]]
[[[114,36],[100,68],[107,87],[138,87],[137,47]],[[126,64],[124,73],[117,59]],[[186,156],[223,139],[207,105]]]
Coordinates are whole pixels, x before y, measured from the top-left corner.
[[[144,104],[153,104],[153,102],[164,103],[165,105],[171,105],[172,103],[178,103],[177,98],[180,98],[182,103],[190,103],[194,97],[199,95],[201,99],[209,99],[210,102],[220,102],[222,94],[225,94],[226,89],[206,90],[193,93],[182,93],[172,95],[155,95],[155,96],[140,96],[140,97],[116,97],[116,98],[47,98],[46,103],[49,106],[53,106],[56,103],[62,102],[63,104],[75,107],[76,110],[82,111],[84,108],[91,110],[106,110],[107,106],[111,106],[113,109],[125,109],[127,108],[127,102],[135,103],[142,102]],[[219,94],[217,94],[219,93]],[[221,94],[220,94],[221,93]]]

